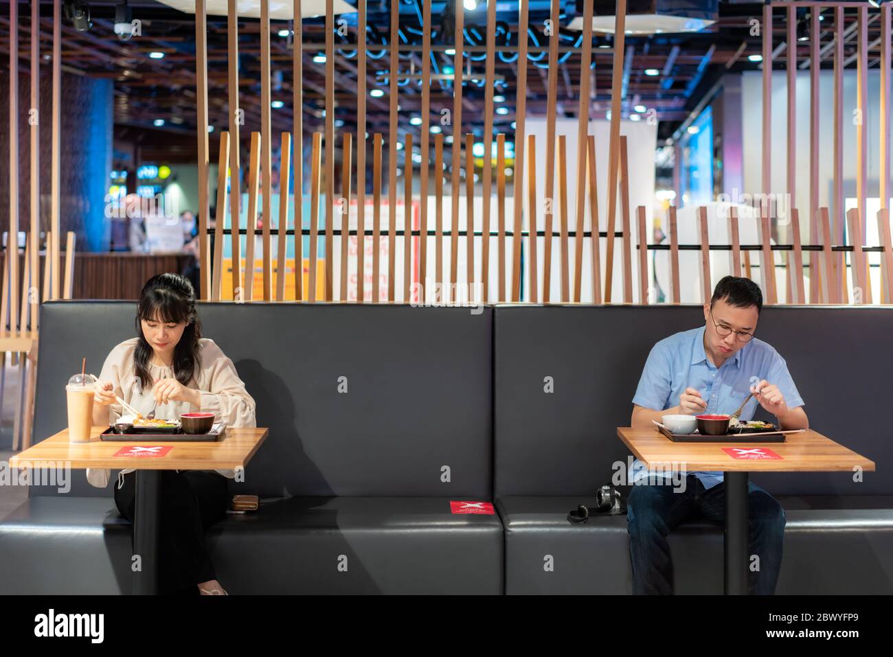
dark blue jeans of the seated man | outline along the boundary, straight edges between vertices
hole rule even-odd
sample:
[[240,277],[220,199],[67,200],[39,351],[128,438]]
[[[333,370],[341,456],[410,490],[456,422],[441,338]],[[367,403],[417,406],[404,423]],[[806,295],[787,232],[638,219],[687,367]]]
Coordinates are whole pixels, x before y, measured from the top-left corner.
[[[671,595],[672,559],[667,535],[680,522],[700,517],[722,525],[725,484],[704,488],[694,475],[684,493],[672,486],[634,486],[627,501],[632,589],[637,595]],[[780,503],[761,487],[748,483],[747,527],[750,555],[759,556],[759,570],[747,571],[748,593],[772,595],[781,568],[785,516]],[[748,560],[748,565],[750,561]]]

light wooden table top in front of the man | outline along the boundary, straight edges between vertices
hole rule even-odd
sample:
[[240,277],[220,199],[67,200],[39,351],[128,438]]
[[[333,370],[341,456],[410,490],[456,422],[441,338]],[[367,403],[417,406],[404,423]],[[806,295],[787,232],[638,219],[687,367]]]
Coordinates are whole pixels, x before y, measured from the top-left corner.
[[873,461],[812,429],[788,434],[783,443],[674,443],[656,427],[618,427],[617,435],[648,470],[665,470],[675,463],[673,470],[689,472],[852,472],[857,466],[874,471]]

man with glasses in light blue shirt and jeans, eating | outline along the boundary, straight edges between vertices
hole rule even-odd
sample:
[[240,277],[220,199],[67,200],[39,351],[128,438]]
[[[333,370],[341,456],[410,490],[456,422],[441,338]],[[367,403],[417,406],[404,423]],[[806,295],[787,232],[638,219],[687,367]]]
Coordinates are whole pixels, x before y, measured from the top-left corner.
[[[652,427],[671,413],[730,415],[755,393],[741,411],[750,420],[757,404],[775,416],[780,428],[808,428],[803,399],[788,366],[771,345],[756,339],[763,294],[750,279],[726,276],[704,305],[705,326],[658,342],[648,354],[633,397],[632,427]],[[722,472],[689,472],[683,485],[655,477],[640,463],[630,470],[627,504],[633,592],[672,594],[672,561],[666,536],[683,520],[700,514],[722,524],[725,487]],[[652,483],[655,485],[647,485]],[[645,485],[643,485],[645,484]],[[785,516],[772,495],[750,483],[747,496],[748,589],[771,595],[781,566]],[[754,557],[758,559],[754,559]]]

